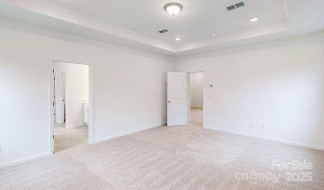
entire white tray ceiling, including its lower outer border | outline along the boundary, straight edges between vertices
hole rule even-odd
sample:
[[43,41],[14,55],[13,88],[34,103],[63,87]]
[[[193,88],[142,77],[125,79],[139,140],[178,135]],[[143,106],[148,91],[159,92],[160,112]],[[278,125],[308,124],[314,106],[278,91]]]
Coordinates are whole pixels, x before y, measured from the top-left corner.
[[[0,2],[0,14],[169,55],[324,30],[322,0],[246,0],[245,7],[230,12],[225,8],[240,0],[175,2],[183,5],[183,10],[176,16],[164,10],[170,3],[166,0],[7,0],[10,5]],[[251,22],[253,17],[259,20]],[[170,32],[157,32],[165,28]],[[211,38],[212,34],[216,38]],[[181,40],[175,41],[175,38]]]

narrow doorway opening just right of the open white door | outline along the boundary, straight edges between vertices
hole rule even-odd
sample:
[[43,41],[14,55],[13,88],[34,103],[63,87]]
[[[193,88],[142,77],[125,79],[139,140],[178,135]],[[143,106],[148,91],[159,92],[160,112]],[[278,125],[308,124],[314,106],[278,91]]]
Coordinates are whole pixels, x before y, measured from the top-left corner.
[[188,124],[204,128],[204,72],[187,73]]

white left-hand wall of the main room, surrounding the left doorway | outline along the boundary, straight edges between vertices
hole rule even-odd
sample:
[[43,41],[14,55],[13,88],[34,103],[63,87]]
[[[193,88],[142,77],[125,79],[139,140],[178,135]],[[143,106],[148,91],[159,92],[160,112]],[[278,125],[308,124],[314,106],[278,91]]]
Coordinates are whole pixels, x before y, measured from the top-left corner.
[[49,155],[53,59],[92,65],[95,142],[166,122],[169,57],[4,18],[0,23],[0,166]]

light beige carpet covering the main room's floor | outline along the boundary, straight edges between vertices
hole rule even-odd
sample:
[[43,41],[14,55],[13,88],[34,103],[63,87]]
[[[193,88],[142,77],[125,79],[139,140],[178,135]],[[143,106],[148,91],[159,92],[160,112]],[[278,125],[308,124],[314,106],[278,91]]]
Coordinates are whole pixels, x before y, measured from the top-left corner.
[[[286,172],[296,170],[273,170],[272,160],[307,160],[312,180],[287,182]],[[276,183],[235,179],[252,170],[281,176]],[[324,189],[324,152],[190,123],[159,126],[3,168],[0,189]]]

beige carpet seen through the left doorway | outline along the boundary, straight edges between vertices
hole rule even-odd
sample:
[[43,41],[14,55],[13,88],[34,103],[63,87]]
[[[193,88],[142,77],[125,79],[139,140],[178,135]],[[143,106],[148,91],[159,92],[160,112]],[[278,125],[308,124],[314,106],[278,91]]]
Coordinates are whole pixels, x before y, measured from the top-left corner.
[[58,153],[62,150],[73,147],[88,145],[88,125],[75,126],[73,128],[65,128],[65,123],[55,123],[55,151]]

